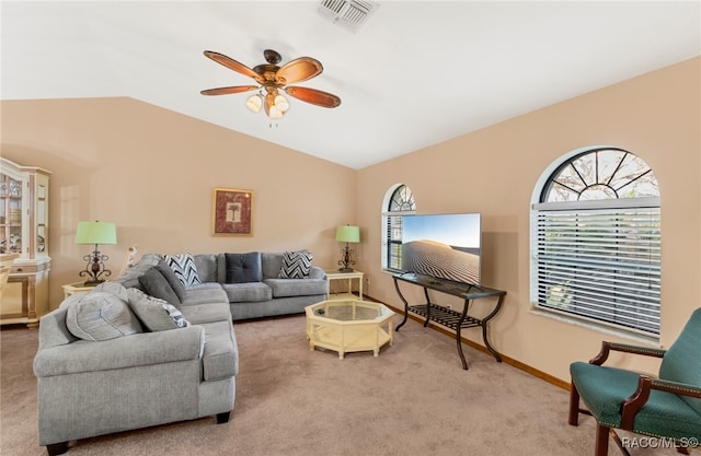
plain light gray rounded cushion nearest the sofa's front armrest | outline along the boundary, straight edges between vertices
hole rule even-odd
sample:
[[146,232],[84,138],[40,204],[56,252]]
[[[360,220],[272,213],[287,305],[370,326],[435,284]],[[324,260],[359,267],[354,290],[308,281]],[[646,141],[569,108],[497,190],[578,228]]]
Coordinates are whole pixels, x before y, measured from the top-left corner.
[[92,291],[71,300],[67,306],[66,326],[77,338],[110,340],[142,332],[129,305],[116,294]]

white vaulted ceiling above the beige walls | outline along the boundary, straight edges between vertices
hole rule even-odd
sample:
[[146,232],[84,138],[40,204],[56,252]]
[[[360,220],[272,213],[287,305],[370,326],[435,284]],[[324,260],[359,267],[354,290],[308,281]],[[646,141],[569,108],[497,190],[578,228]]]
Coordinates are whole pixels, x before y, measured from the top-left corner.
[[[129,96],[363,168],[701,54],[699,1],[380,1],[355,33],[319,1],[2,1],[2,100]],[[299,83],[342,98],[295,98],[271,127],[241,63],[310,56]],[[634,108],[634,106],[631,106]]]

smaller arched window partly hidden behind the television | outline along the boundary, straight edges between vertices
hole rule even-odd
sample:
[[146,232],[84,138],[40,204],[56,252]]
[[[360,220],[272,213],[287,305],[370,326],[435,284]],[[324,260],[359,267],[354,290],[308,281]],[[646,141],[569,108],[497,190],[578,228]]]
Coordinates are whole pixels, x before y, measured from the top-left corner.
[[416,212],[412,190],[399,184],[390,188],[382,212],[382,269],[399,271],[402,264],[402,215]]

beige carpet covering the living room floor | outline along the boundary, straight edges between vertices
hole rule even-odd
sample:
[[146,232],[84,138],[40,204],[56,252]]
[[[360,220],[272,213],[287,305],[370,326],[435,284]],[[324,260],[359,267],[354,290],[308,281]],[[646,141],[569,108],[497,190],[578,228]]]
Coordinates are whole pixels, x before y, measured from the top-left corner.
[[[593,419],[567,425],[567,391],[468,347],[463,371],[455,341],[416,321],[378,358],[345,360],[309,350],[303,316],[234,327],[241,372],[229,423],[200,419],[87,439],[71,442],[68,455],[594,454]],[[37,331],[3,327],[0,336],[0,455],[45,455],[32,373]],[[611,445],[609,454],[620,453]]]

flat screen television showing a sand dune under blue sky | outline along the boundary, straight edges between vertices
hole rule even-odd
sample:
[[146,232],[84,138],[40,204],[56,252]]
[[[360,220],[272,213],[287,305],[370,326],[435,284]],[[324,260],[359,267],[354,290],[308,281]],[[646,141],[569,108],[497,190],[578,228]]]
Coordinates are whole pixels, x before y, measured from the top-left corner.
[[480,285],[482,214],[402,217],[403,272]]

